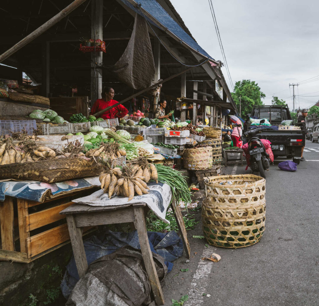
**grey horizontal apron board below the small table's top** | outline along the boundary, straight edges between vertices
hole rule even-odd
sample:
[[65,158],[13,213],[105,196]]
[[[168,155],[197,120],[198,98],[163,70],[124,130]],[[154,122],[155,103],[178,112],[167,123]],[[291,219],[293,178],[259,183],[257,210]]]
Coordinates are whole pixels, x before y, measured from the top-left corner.
[[75,214],[74,218],[77,227],[135,221],[133,209],[131,207],[114,211]]

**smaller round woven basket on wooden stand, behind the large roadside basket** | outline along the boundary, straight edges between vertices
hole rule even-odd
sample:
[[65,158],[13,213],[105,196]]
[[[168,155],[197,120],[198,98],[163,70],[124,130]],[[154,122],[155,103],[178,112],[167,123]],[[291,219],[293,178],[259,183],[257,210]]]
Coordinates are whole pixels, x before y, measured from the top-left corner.
[[189,170],[210,169],[213,165],[212,148],[210,146],[183,151],[184,167]]

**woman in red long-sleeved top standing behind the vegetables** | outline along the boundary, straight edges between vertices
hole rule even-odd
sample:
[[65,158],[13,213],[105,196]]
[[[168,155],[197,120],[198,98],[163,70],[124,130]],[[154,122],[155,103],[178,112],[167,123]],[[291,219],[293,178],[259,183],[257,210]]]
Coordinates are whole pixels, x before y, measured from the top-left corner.
[[[104,90],[102,92],[103,99],[98,99],[93,104],[93,107],[91,109],[91,115],[94,115],[98,111],[107,108],[108,106],[112,106],[118,101],[113,100],[114,98],[114,89],[112,87],[104,87]],[[100,115],[101,118],[105,119],[114,119],[114,118],[123,118],[125,115],[127,115],[129,111],[122,105],[119,104],[118,106],[115,106],[114,108],[111,108]]]

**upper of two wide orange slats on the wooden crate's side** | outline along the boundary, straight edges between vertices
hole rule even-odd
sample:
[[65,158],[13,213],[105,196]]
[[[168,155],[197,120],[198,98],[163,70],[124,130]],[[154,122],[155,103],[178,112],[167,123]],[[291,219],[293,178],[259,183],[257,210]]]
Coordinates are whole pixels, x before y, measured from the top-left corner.
[[29,227],[29,230],[32,231],[33,229],[40,228],[41,226],[65,218],[64,215],[60,214],[60,211],[72,204],[73,202],[67,202],[61,205],[41,210],[37,213],[31,213],[27,220],[27,226]]

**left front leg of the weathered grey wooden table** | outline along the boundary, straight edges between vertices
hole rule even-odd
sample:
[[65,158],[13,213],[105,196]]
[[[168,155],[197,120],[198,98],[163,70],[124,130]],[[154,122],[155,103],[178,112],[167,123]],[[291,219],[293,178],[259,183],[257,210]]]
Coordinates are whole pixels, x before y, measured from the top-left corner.
[[76,227],[73,215],[67,215],[66,220],[68,222],[75,263],[77,265],[79,277],[81,278],[88,269],[81,230]]

